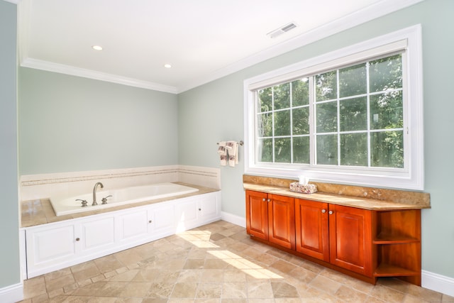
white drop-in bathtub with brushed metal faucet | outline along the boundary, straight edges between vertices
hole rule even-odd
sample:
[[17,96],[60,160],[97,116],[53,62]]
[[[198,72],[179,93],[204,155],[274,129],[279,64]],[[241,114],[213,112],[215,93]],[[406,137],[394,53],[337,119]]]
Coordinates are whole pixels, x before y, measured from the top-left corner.
[[[104,187],[106,189],[106,187]],[[74,197],[50,197],[50,204],[57,216],[65,214],[76,214],[84,211],[94,211],[97,209],[106,209],[118,205],[134,204],[144,201],[152,201],[167,197],[179,196],[181,194],[190,194],[198,192],[199,189],[187,187],[175,183],[157,183],[146,186],[126,187],[123,189],[103,190],[99,188],[96,191],[96,202],[98,205],[92,206],[93,193],[80,194]],[[108,197],[111,196],[111,197]],[[107,204],[101,204],[102,199],[107,198]],[[87,206],[82,207],[81,201],[86,200]]]

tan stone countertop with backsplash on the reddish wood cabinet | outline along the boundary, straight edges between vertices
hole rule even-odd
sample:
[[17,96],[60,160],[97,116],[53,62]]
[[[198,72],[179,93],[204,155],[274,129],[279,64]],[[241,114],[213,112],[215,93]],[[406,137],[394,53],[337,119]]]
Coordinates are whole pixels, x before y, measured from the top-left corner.
[[290,182],[295,182],[295,180],[243,176],[244,189],[256,192],[279,194],[287,197],[376,211],[431,208],[430,195],[424,192],[406,192],[395,189],[311,182],[317,185],[319,192],[302,194],[291,192],[289,189]]

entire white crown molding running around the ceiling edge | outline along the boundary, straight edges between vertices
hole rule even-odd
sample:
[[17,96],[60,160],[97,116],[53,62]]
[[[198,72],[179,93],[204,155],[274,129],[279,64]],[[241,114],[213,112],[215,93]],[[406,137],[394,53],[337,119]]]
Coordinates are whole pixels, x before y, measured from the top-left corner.
[[31,0],[4,0],[10,1],[12,3],[19,4],[18,7],[18,49],[19,49],[19,60],[22,67],[30,67],[38,70],[46,70],[49,72],[60,72],[67,75],[74,75],[77,77],[85,77],[89,79],[98,79],[106,82],[114,82],[118,84],[128,85],[132,87],[140,87],[144,89],[153,89],[160,92],[169,92],[172,94],[179,94],[186,92],[189,89],[199,87],[203,84],[209,83],[221,77],[226,77],[231,75],[234,72],[238,72],[247,67],[251,67],[265,60],[269,60],[272,57],[277,57],[289,51],[296,50],[301,48],[304,45],[309,45],[314,43],[317,40],[321,40],[330,35],[340,33],[349,28],[353,28],[367,21],[371,21],[375,18],[380,18],[394,11],[399,11],[408,6],[412,6],[424,0],[383,0],[367,6],[365,9],[356,11],[355,13],[350,13],[350,15],[343,18],[339,18],[331,23],[326,23],[319,28],[314,28],[314,30],[302,33],[297,35],[294,38],[286,40],[278,45],[267,48],[260,53],[255,55],[245,57],[243,60],[239,60],[231,65],[216,70],[209,75],[204,77],[198,77],[195,79],[190,79],[185,84],[180,85],[179,87],[172,87],[165,84],[158,84],[153,82],[146,82],[140,79],[132,79],[128,77],[122,77],[119,75],[111,75],[103,72],[98,72],[95,70],[87,70],[79,67],[73,67],[69,65],[60,65],[54,62],[47,62],[43,60],[36,60],[31,57],[28,57],[28,25],[23,24],[23,22],[28,22],[28,17],[31,12]]

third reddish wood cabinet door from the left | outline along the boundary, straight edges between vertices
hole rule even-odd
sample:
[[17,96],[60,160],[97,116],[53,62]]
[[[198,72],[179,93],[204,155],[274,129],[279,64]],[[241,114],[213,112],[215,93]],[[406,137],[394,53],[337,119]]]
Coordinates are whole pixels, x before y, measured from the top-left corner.
[[295,199],[297,251],[329,261],[328,204]]

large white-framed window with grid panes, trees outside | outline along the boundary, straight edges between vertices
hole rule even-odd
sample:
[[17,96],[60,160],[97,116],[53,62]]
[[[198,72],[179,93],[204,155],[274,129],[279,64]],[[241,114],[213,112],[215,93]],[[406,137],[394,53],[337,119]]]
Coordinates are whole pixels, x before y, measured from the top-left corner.
[[245,81],[245,172],[423,189],[420,28]]

